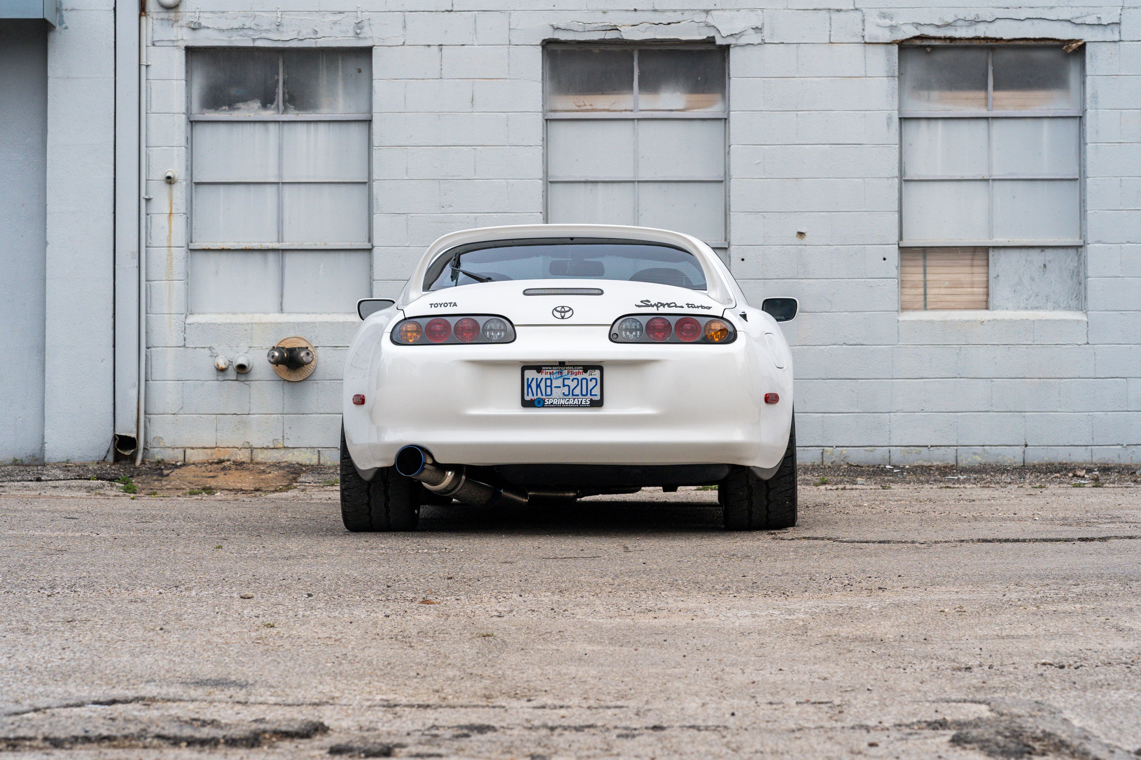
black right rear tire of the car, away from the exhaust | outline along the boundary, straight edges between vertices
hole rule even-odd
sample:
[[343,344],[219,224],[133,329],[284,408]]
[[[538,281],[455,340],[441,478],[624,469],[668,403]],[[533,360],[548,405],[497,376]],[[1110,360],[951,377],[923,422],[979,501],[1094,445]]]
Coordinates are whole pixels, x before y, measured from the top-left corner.
[[748,467],[734,467],[718,484],[718,502],[728,530],[778,530],[796,524],[796,417],[780,467],[761,480]]

